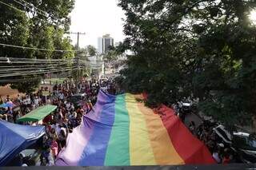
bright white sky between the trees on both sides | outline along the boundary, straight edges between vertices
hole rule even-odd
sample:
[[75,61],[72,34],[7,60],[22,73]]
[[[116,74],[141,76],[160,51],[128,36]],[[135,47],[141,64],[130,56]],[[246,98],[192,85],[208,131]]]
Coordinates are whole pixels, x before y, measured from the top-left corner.
[[[98,48],[98,37],[110,34],[114,42],[122,42],[125,18],[122,8],[117,6],[118,0],[75,0],[71,13],[71,32],[82,32],[79,46],[94,45]],[[70,35],[72,43],[77,43],[77,35]]]

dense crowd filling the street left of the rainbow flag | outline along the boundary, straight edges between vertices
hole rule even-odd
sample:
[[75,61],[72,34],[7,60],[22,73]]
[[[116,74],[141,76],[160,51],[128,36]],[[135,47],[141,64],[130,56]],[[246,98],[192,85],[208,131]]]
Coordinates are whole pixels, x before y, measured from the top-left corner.
[[[109,80],[74,81],[66,80],[62,84],[53,86],[52,91],[48,87],[42,87],[34,94],[20,95],[11,99],[7,96],[2,104],[8,104],[3,108],[1,119],[12,123],[24,125],[44,125],[46,135],[38,149],[41,152],[40,161],[37,165],[54,165],[54,159],[66,146],[66,138],[70,132],[81,124],[82,116],[93,109],[97,101],[99,89],[107,90],[115,94],[114,84]],[[30,113],[42,105],[56,105],[57,109],[39,122],[17,122],[19,117]],[[18,110],[15,110],[18,106]],[[22,157],[22,156],[21,156]],[[23,162],[24,163],[24,162]],[[25,164],[26,165],[26,164]]]

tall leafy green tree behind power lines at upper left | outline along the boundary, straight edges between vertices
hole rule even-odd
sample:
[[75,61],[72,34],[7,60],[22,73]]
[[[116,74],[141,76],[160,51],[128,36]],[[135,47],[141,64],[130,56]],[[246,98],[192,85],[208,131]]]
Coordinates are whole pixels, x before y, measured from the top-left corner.
[[[74,53],[54,52],[54,49],[71,50],[70,38],[64,38],[64,32],[69,30],[69,14],[74,7],[74,0],[67,1],[26,1],[30,5],[23,6],[18,2],[4,1],[10,6],[19,10],[14,10],[9,6],[0,6],[0,42],[10,45],[20,45],[32,48],[52,49],[52,51],[38,51],[34,49],[16,49],[0,46],[0,55],[5,57],[22,57],[22,58],[40,58],[40,59],[61,59],[74,57]],[[46,11],[47,14],[40,10]],[[6,65],[6,64],[4,64]],[[15,64],[9,64],[14,65]],[[26,64],[24,64],[26,65]],[[31,64],[29,64],[31,65]],[[42,77],[42,75],[36,75]],[[21,77],[6,77],[12,79],[30,79],[34,75],[24,75]],[[36,88],[38,81],[13,83],[11,86],[17,88],[20,92],[26,92],[28,86]],[[5,85],[3,83],[2,85]]]

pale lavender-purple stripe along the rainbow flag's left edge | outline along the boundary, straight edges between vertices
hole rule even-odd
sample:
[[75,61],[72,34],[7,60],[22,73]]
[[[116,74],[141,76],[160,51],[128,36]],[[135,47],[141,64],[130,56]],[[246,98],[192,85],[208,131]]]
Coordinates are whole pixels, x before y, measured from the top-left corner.
[[102,115],[102,107],[112,103],[115,97],[108,95],[102,90],[98,93],[98,100],[94,109],[83,117],[82,124],[74,128],[66,142],[66,148],[62,149],[56,160],[58,166],[77,166],[88,144],[91,135],[94,132],[94,121],[99,121]]

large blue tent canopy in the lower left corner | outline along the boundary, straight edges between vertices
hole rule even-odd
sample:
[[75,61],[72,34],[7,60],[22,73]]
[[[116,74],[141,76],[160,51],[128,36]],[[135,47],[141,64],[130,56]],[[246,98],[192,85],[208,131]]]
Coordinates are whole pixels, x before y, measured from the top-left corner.
[[8,164],[44,134],[44,126],[16,125],[0,120],[0,166]]

